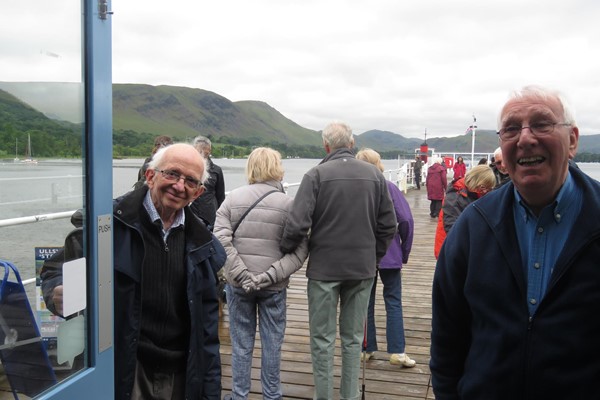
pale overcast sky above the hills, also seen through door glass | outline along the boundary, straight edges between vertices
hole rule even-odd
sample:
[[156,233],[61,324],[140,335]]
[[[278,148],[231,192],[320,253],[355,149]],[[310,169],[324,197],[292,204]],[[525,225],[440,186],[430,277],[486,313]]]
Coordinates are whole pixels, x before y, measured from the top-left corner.
[[[68,2],[7,1],[0,81],[35,68],[80,76],[62,65],[80,48],[63,45],[80,29],[66,31]],[[54,17],[28,27],[32,6]],[[464,134],[473,114],[496,129],[509,91],[540,84],[571,100],[582,134],[600,134],[597,0],[113,0],[112,11],[115,83],[264,101],[314,130],[341,120],[419,138]],[[13,57],[25,40],[31,61]]]

